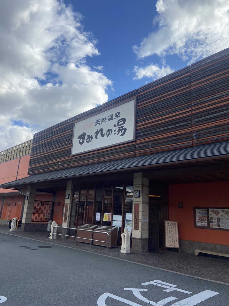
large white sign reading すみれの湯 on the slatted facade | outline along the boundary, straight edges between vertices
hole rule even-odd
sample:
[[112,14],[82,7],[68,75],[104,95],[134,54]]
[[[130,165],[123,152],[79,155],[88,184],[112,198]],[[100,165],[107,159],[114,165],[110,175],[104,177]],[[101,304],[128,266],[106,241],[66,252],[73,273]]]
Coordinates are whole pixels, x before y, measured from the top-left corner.
[[107,147],[135,138],[135,100],[75,122],[71,154]]

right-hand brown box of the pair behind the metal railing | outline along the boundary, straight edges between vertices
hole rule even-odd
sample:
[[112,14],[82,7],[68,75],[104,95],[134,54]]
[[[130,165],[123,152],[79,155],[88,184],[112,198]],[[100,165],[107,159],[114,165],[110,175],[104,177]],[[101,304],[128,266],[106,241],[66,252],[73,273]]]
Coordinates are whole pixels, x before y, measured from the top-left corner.
[[[115,226],[97,226],[96,229],[94,229],[95,232],[93,233],[93,239],[100,240],[100,241],[107,241],[107,233],[109,233],[109,241],[108,246],[109,248],[117,248],[117,242],[118,242],[118,228]],[[104,233],[96,233],[96,231],[104,232]],[[107,242],[100,242],[93,240],[93,244],[95,245],[102,245],[107,246]]]

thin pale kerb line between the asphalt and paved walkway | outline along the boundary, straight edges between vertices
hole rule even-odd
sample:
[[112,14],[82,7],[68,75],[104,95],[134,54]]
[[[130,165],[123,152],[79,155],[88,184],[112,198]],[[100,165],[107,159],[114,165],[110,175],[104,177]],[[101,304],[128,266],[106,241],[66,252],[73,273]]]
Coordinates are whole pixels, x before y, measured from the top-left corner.
[[82,249],[79,249],[79,248],[69,247],[69,246],[67,246],[67,245],[62,245],[62,244],[57,244],[57,243],[46,242],[46,241],[43,241],[43,240],[38,240],[38,239],[23,237],[23,236],[19,236],[19,235],[10,234],[10,233],[4,233],[4,232],[0,232],[0,233],[1,233],[1,234],[6,234],[6,235],[15,236],[15,237],[19,237],[19,238],[24,238],[24,239],[30,239],[30,240],[34,240],[34,241],[39,241],[39,242],[43,242],[43,243],[53,244],[53,245],[57,245],[57,246],[60,246],[60,247],[63,247],[63,248],[70,248],[70,249],[77,250],[77,251],[82,251],[82,252],[87,252],[87,253],[91,253],[91,254],[95,254],[95,255],[100,255],[100,256],[105,256],[105,257],[109,257],[109,258],[114,258],[114,259],[117,259],[117,260],[126,261],[126,262],[128,262],[128,263],[135,263],[136,265],[140,265],[140,266],[144,266],[144,267],[149,267],[149,268],[153,268],[153,269],[157,269],[157,270],[162,270],[162,271],[166,271],[166,272],[171,272],[171,273],[175,273],[175,274],[179,274],[179,275],[184,275],[184,276],[188,276],[188,277],[192,277],[192,278],[202,279],[203,281],[207,281],[207,282],[213,282],[213,283],[217,283],[217,284],[229,286],[229,283],[220,282],[220,281],[215,281],[215,280],[213,280],[213,279],[203,278],[203,277],[199,277],[199,276],[195,276],[195,275],[191,275],[191,274],[186,274],[186,273],[182,273],[182,272],[177,272],[177,271],[172,271],[172,270],[168,270],[168,269],[158,268],[158,267],[154,267],[154,266],[147,265],[147,264],[145,264],[145,263],[138,263],[138,262],[132,261],[132,260],[117,258],[117,257],[115,257],[115,256],[109,256],[109,255],[100,254],[100,253],[96,253],[96,252],[86,251],[86,250],[82,250]]

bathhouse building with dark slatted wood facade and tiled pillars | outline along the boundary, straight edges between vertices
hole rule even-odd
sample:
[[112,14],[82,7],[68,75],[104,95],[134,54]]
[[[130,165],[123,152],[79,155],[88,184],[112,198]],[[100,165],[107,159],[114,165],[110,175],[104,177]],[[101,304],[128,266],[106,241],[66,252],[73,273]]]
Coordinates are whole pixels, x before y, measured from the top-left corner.
[[127,226],[142,253],[163,248],[165,221],[178,221],[181,251],[228,253],[228,58],[229,48],[36,133],[29,176],[0,186],[25,194],[22,229],[114,225],[120,244]]

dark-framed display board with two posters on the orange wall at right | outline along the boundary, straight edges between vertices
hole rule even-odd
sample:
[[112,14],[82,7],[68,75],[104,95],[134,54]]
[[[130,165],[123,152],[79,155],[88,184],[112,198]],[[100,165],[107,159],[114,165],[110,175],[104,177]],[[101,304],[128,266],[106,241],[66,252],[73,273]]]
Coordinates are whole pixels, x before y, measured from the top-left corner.
[[229,230],[229,207],[194,207],[194,227]]

